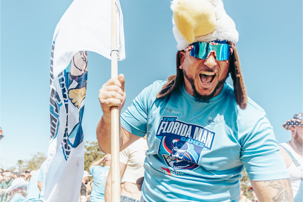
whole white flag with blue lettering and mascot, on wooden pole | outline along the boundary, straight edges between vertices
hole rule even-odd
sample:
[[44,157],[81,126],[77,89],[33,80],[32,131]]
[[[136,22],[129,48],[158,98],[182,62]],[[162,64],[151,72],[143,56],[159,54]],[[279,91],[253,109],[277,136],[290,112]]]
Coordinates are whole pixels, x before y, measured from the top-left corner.
[[[123,16],[117,5],[118,60],[125,59]],[[51,134],[44,200],[78,201],[84,170],[82,116],[87,52],[110,59],[111,0],[74,0],[53,36],[50,74]]]

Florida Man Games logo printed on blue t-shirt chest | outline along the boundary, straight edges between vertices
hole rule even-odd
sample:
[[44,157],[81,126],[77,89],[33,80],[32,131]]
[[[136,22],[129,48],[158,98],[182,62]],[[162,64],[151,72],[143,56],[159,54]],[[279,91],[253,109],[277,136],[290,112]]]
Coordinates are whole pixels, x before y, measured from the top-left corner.
[[[161,141],[158,154],[173,170],[195,170],[203,148],[211,150],[215,132],[202,126],[162,117],[156,137]],[[204,150],[205,150],[204,149]]]

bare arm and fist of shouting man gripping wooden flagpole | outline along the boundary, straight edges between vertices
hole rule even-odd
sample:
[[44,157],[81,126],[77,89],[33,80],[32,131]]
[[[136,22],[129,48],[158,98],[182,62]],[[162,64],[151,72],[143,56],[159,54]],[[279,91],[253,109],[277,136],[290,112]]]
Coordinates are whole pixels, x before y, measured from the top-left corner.
[[[119,115],[125,103],[125,78],[123,74],[118,79],[108,80],[99,90],[99,101],[103,115],[97,125],[97,140],[104,153],[111,153],[111,107],[119,107]],[[122,128],[120,124],[120,151],[138,140],[140,137],[133,135]]]

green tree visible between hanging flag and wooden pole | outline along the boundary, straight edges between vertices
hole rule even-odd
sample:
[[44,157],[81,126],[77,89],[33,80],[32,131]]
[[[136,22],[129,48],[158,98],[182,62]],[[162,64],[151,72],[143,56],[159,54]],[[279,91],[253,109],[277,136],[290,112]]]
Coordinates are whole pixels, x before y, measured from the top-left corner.
[[[84,150],[84,170],[88,171],[88,167],[92,164],[92,162],[99,160],[105,154],[102,153],[98,142],[85,142],[85,150]],[[101,164],[103,166],[103,163]]]

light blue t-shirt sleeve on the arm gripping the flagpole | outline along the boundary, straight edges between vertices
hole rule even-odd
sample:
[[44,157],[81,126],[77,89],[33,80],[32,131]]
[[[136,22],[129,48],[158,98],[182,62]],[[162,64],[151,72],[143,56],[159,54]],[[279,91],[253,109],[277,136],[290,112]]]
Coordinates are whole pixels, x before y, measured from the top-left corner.
[[148,104],[150,103],[150,97],[153,96],[154,89],[153,84],[146,87],[133,100],[131,106],[121,114],[121,125],[128,132],[141,137],[145,136],[147,131]]

